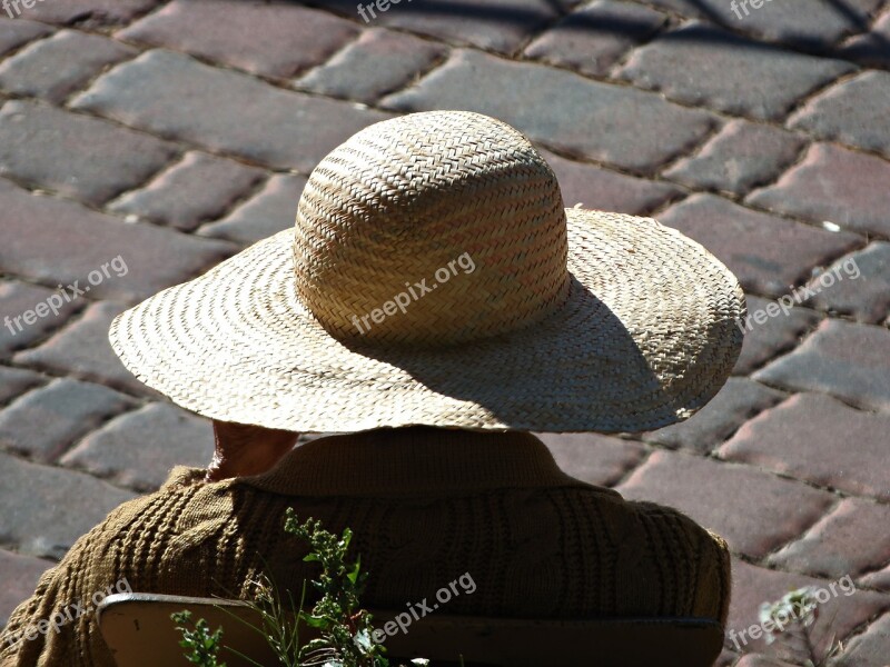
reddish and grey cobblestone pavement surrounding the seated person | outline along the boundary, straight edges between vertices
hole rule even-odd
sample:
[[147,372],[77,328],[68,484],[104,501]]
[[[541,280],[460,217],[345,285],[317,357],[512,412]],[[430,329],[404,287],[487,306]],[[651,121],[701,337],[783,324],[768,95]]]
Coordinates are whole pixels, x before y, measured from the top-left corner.
[[[734,377],[699,416],[545,436],[560,462],[725,536],[736,630],[850,575],[817,631],[840,665],[887,665],[890,2],[392,0],[365,21],[356,1],[0,18],[0,301],[38,308],[0,327],[0,621],[110,508],[208,460],[208,425],[123,370],[111,318],[290,226],[357,129],[461,108],[537,142],[567,206],[652,215],[750,295]],[[76,280],[90,291],[48,301]],[[792,286],[801,302],[772,303]],[[739,648],[721,665],[777,664]]]

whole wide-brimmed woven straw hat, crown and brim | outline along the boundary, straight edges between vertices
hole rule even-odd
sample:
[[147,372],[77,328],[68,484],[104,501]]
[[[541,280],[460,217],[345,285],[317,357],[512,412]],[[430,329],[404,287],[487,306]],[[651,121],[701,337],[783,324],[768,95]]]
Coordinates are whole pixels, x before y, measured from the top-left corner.
[[706,404],[743,315],[696,242],[564,209],[520,132],[435,111],[352,137],[294,229],[127,310],[109,338],[146,385],[227,421],[614,432]]

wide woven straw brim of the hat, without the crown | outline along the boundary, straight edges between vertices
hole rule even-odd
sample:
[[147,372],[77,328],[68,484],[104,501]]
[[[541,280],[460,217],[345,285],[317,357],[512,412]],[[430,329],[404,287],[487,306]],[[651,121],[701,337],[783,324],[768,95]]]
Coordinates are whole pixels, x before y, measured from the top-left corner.
[[297,298],[291,228],[122,312],[109,339],[188,410],[298,432],[633,432],[691,416],[741,349],[735,276],[655,220],[566,217],[568,299],[518,331],[443,349],[338,340]]

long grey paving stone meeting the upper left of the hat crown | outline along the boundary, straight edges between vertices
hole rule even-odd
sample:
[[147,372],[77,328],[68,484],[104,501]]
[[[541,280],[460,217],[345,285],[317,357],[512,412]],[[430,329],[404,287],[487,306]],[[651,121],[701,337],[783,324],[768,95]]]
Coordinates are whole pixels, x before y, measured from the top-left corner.
[[103,74],[73,106],[171,139],[305,173],[365,126],[389,118],[159,50]]

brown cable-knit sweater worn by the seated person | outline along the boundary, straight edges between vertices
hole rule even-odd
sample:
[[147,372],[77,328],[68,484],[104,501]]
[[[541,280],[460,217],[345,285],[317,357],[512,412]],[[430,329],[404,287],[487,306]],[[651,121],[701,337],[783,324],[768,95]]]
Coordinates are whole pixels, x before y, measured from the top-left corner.
[[[317,566],[283,530],[288,507],[354,530],[368,607],[404,610],[467,574],[476,588],[451,599],[448,614],[725,623],[722,539],[568,477],[528,434],[379,429],[314,440],[264,475],[202,475],[174,469],[160,490],[81,537],[13,611],[0,667],[113,667],[90,599],[123,580],[138,593],[244,598],[265,571],[298,594]],[[85,613],[58,633],[17,640],[73,603]]]

